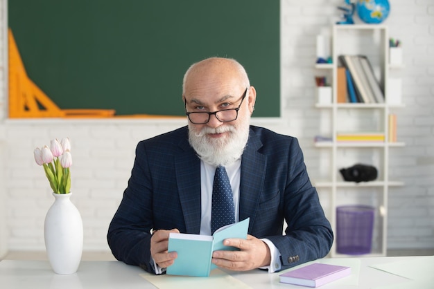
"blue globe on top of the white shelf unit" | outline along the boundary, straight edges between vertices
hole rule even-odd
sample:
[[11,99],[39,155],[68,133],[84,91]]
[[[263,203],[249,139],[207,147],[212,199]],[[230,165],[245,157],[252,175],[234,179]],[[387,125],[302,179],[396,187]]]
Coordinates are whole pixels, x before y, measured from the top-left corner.
[[358,0],[357,14],[367,24],[380,24],[388,16],[390,5],[388,0]]

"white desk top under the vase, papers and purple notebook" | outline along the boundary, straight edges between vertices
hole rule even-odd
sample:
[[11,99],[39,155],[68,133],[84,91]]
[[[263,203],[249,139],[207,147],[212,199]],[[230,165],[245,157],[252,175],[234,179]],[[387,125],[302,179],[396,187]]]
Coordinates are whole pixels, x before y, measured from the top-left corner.
[[[391,263],[395,261],[412,261],[426,257],[374,257],[360,258],[358,286],[340,284],[340,280],[321,286],[329,288],[372,288],[393,284],[405,284],[409,279],[388,272],[370,268],[369,265]],[[1,288],[155,288],[139,274],[146,273],[141,268],[126,265],[119,261],[82,261],[78,272],[71,275],[55,274],[48,261],[0,261]],[[148,274],[148,273],[146,273]],[[290,284],[279,283],[279,274],[268,274],[261,270],[250,272],[229,272],[251,288],[304,288]],[[164,278],[164,276],[158,276]],[[191,278],[191,277],[185,277]],[[342,279],[341,279],[342,280]],[[431,284],[432,285],[432,284]],[[180,288],[177,286],[177,288]],[[410,288],[410,287],[408,287]]]

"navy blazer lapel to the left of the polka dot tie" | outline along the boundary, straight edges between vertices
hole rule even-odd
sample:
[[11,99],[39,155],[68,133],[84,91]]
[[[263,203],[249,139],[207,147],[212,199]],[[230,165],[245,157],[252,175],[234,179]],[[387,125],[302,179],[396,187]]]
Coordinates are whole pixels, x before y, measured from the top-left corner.
[[186,232],[200,232],[200,160],[190,147],[188,140],[182,139],[183,152],[175,157],[175,174],[180,194],[182,214]]

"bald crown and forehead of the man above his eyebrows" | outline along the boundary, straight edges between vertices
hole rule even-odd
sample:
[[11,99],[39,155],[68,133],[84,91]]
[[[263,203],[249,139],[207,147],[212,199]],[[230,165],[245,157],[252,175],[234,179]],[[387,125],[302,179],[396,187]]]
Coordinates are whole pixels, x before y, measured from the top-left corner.
[[236,85],[249,87],[245,69],[235,59],[211,57],[189,67],[182,83],[182,95],[201,85]]

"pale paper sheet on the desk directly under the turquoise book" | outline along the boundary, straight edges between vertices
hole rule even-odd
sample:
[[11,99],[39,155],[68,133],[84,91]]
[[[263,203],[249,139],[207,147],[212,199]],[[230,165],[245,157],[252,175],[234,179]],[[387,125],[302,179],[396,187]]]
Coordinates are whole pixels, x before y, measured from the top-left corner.
[[251,288],[246,283],[232,277],[231,275],[215,269],[209,277],[189,277],[175,275],[153,275],[149,273],[139,274],[144,279],[159,289],[189,288],[189,289],[245,289]]

